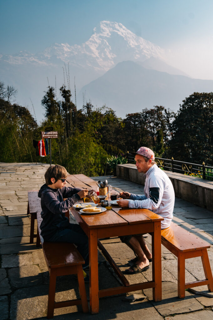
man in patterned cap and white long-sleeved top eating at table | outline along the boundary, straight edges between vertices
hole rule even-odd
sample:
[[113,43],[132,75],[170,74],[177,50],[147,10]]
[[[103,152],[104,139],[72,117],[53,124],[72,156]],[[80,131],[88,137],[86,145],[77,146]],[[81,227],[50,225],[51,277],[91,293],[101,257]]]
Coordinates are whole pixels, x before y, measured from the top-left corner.
[[[161,221],[161,229],[168,228],[172,221],[175,203],[175,193],[171,181],[163,170],[155,163],[154,152],[146,147],[141,147],[135,155],[138,172],[145,174],[144,195],[135,195],[129,192],[121,192],[123,200],[117,201],[122,208],[146,208],[164,218]],[[128,199],[128,200],[127,200]],[[122,236],[121,241],[126,243],[136,254],[132,261],[133,266],[127,269],[127,273],[135,274],[150,268],[152,254],[149,251],[143,235]]]

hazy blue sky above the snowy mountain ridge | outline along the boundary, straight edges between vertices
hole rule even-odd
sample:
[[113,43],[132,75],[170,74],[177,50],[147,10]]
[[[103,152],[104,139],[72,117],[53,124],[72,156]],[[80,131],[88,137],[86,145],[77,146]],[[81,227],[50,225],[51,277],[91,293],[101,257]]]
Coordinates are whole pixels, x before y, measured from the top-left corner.
[[213,79],[212,13],[213,0],[0,0],[0,53],[82,44],[109,20],[166,49],[188,75]]

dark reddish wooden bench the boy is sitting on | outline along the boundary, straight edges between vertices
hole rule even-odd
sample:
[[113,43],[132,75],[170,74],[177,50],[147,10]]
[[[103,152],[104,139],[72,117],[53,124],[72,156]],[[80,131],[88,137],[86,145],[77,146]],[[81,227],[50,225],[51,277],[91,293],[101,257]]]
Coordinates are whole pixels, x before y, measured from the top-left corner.
[[[84,259],[76,249],[74,244],[63,242],[44,242],[41,236],[42,218],[40,212],[37,212],[37,243],[41,240],[42,249],[44,252],[47,268],[50,275],[49,293],[47,304],[47,319],[53,318],[55,308],[63,308],[76,306],[81,304],[83,312],[88,312],[88,303],[86,298],[86,290],[83,276],[82,264]],[[77,274],[80,299],[55,302],[55,285],[57,276],[66,276]]]

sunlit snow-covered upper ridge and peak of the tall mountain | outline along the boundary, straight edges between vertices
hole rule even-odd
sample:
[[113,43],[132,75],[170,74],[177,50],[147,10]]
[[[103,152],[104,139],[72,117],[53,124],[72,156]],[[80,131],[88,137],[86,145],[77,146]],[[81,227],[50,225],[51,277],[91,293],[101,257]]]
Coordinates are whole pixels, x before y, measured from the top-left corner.
[[78,67],[107,71],[124,60],[144,61],[150,57],[162,59],[164,50],[136,36],[121,23],[101,21],[90,39],[82,45],[53,44],[36,55],[22,51],[0,59],[10,64],[55,65],[60,61],[70,62]]

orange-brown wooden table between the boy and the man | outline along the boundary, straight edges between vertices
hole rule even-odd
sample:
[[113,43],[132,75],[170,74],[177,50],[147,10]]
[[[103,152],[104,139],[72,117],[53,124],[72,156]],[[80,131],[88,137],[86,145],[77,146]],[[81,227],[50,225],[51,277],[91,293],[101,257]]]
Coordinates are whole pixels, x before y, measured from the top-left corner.
[[[90,181],[88,177],[81,175],[68,176],[68,182],[75,178],[74,187],[83,187],[85,183],[94,188],[94,181]],[[84,179],[84,177],[86,177]],[[74,181],[74,180],[73,180]],[[93,185],[93,186],[92,186]],[[161,300],[161,220],[162,217],[147,209],[122,209],[113,206],[111,210],[107,210],[96,215],[83,215],[71,208],[71,212],[78,221],[81,228],[85,231],[89,238],[89,258],[90,258],[90,311],[95,314],[99,312],[99,298],[111,296],[115,294],[142,290],[147,288],[153,289],[153,299]],[[115,236],[125,236],[131,234],[151,233],[152,234],[152,281],[142,282],[138,284],[129,284],[126,277],[110,257],[109,253],[104,249],[98,239]],[[115,269],[117,275],[121,279],[124,286],[99,290],[98,287],[98,250],[101,248],[111,266]],[[105,251],[104,251],[105,250]]]

